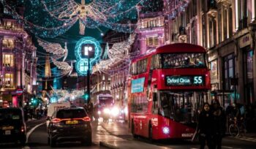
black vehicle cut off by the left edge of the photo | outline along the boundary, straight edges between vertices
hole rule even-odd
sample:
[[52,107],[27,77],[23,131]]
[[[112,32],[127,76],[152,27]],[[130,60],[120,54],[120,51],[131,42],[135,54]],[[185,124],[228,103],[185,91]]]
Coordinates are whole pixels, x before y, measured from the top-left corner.
[[26,123],[20,108],[0,108],[0,142],[26,143]]

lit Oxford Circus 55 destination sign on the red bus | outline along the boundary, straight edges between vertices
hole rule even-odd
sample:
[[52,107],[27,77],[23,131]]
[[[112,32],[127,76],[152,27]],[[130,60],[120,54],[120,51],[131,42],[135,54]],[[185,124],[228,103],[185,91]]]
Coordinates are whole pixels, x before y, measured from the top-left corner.
[[166,76],[165,84],[168,86],[204,85],[203,76]]

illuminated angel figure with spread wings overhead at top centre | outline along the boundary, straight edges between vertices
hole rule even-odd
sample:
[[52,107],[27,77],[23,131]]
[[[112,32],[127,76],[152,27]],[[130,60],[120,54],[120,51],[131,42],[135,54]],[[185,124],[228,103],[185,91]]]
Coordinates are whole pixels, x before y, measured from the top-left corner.
[[80,34],[83,35],[85,28],[97,28],[105,26],[113,30],[129,32],[130,25],[127,23],[116,23],[118,18],[137,10],[137,5],[143,0],[98,0],[86,4],[85,0],[77,3],[74,0],[41,0],[50,16],[58,20],[70,22],[74,18],[79,20]]

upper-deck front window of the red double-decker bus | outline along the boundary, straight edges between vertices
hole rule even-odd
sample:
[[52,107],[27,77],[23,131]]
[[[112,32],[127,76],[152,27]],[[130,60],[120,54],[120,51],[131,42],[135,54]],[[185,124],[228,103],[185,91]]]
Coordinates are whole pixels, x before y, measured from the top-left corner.
[[158,56],[160,68],[206,67],[205,53],[162,53]]

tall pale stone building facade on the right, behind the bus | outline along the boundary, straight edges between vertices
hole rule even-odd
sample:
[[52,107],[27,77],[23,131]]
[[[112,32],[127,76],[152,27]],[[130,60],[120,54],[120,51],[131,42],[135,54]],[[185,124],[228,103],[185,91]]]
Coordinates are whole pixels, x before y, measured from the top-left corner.
[[[211,91],[222,105],[255,104],[255,0],[165,0],[170,43],[206,47]],[[182,38],[181,38],[182,37]]]

